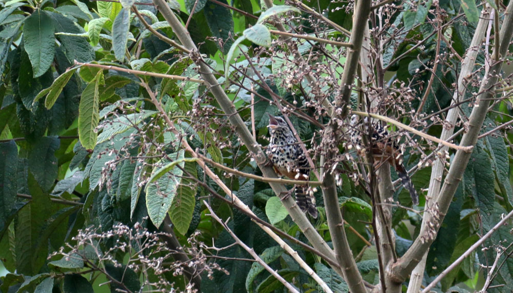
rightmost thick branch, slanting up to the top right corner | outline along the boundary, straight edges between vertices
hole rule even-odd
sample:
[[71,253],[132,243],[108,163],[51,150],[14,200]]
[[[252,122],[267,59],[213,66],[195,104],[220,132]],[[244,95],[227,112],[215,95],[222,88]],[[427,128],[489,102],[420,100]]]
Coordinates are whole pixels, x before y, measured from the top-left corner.
[[[508,50],[511,36],[513,35],[513,2],[510,2],[506,8],[504,23],[500,32],[500,52],[499,57],[505,56]],[[495,52],[492,55],[497,55]],[[490,66],[489,72],[481,83],[480,94],[477,97],[478,105],[472,109],[468,121],[468,131],[463,134],[460,146],[474,146],[478,140],[479,131],[483,125],[490,100],[495,95],[495,85],[499,80],[499,74],[502,68],[502,61],[495,60]],[[392,277],[396,282],[403,282],[413,267],[422,259],[440,228],[444,216],[452,201],[452,197],[458,188],[463,177],[463,172],[467,167],[471,152],[458,150],[451,163],[447,177],[440,193],[435,197],[435,202],[426,209],[426,218],[423,221],[419,237],[413,242],[404,256],[392,267]]]

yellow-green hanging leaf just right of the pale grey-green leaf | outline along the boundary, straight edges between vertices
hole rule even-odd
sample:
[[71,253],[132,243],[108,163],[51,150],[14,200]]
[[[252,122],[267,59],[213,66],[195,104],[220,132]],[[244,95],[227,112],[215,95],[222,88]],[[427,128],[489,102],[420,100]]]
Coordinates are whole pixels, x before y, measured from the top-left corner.
[[[194,162],[185,162],[184,170],[189,172],[194,178],[198,178],[196,164],[194,164]],[[185,177],[182,178],[182,182],[180,183],[178,190],[176,190],[176,195],[174,196],[173,203],[169,209],[169,217],[171,218],[176,230],[178,230],[182,235],[187,233],[189,224],[192,221],[192,213],[194,212],[196,201],[196,189],[196,183],[193,179]]]

